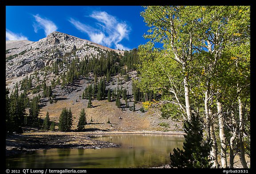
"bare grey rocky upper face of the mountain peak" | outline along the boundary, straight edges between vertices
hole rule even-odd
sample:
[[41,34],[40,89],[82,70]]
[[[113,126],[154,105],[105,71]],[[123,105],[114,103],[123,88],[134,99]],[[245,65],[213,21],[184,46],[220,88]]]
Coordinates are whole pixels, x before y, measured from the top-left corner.
[[124,51],[114,50],[58,31],[37,42],[6,41],[6,78],[24,76],[44,66],[51,66],[60,58],[98,57],[100,51],[110,50],[124,54]]

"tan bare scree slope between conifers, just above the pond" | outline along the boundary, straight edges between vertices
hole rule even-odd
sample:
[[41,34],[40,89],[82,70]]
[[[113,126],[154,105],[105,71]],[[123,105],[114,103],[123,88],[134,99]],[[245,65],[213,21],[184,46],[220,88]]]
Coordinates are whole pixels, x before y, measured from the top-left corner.
[[[128,73],[131,78],[136,78],[136,71]],[[123,81],[123,77],[116,75],[112,77],[112,82],[106,85],[108,89],[117,87],[117,78],[120,78],[123,88],[128,91],[128,104],[133,106],[132,81]],[[172,119],[162,119],[160,111],[156,108],[151,108],[147,112],[141,112],[142,103],[138,102],[135,106],[135,112],[125,108],[125,101],[121,99],[121,107],[117,108],[115,100],[111,102],[106,100],[92,100],[92,108],[87,108],[88,100],[82,99],[82,93],[89,83],[86,79],[80,79],[74,82],[73,85],[67,85],[64,89],[56,86],[53,89],[56,95],[56,102],[50,103],[46,99],[41,99],[40,118],[44,119],[49,112],[50,120],[56,123],[59,120],[62,108],[71,108],[73,115],[72,130],[76,130],[80,117],[80,111],[85,109],[87,125],[86,131],[182,131],[182,122]],[[120,85],[119,85],[120,87]],[[110,120],[110,123],[108,122]],[[92,121],[91,121],[92,120]],[[167,127],[163,127],[160,123],[166,123]],[[58,127],[56,126],[56,129]]]

